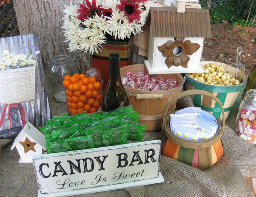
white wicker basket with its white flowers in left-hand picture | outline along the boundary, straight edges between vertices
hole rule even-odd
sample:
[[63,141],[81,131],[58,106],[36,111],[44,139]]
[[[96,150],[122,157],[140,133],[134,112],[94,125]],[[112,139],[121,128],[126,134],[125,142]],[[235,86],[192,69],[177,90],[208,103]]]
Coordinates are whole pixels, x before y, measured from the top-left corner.
[[35,100],[36,61],[25,54],[5,50],[0,58],[0,103],[12,104]]

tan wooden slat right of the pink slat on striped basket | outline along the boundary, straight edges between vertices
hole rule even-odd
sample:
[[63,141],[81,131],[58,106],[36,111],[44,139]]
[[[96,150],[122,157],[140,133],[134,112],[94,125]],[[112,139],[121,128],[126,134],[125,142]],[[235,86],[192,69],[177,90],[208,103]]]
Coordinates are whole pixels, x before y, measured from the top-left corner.
[[212,166],[211,147],[198,149],[199,169],[205,170]]

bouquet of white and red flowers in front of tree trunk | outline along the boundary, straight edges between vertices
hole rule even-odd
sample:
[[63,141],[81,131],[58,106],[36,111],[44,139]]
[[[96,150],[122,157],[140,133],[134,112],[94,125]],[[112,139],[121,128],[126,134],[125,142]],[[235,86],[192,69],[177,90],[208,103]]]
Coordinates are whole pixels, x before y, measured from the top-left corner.
[[64,36],[69,50],[93,54],[107,40],[130,38],[140,33],[151,0],[86,0],[85,4],[65,6]]

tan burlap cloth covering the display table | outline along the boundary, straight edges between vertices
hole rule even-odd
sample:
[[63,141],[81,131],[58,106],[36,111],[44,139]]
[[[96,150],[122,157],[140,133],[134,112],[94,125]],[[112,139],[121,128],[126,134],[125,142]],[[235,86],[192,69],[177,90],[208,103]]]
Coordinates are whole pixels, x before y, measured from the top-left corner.
[[[190,97],[180,99],[178,104],[193,106]],[[57,114],[65,110],[63,105],[52,106],[52,111]],[[235,115],[227,121],[233,128]],[[222,136],[224,155],[208,170],[201,171],[161,156],[160,171],[164,183],[83,196],[251,196],[243,176],[256,177],[256,147],[236,136],[227,125]],[[156,139],[163,141],[164,133],[146,132],[144,135],[144,141]],[[36,196],[38,185],[33,165],[19,164],[18,152],[11,151],[11,145],[12,139],[0,140],[0,196]]]

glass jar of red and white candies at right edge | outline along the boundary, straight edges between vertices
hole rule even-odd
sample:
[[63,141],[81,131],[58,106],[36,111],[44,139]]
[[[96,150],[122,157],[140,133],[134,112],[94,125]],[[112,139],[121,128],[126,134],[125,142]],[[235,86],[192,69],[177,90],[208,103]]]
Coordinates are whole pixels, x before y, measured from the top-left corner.
[[256,146],[256,89],[244,94],[236,117],[236,133]]

